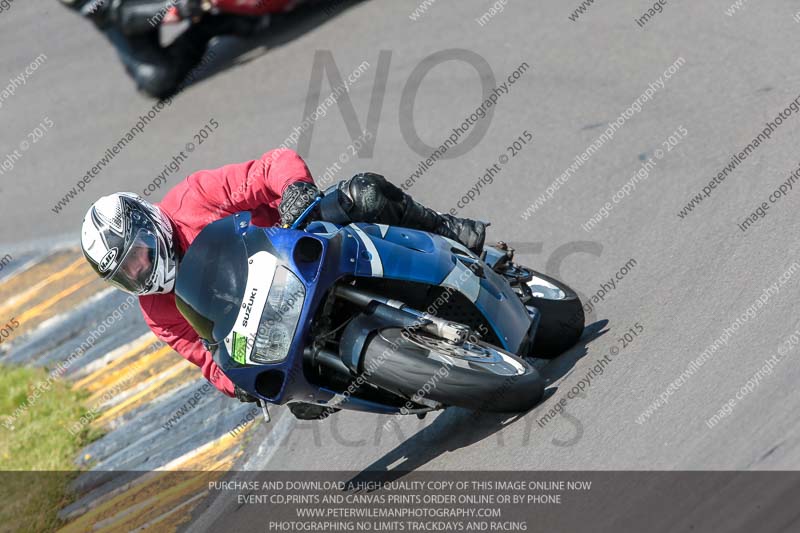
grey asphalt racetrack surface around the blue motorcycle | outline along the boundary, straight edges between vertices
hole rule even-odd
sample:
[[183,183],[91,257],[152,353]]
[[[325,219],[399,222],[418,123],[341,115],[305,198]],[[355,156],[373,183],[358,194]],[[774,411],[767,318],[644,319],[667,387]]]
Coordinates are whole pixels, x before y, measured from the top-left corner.
[[[373,91],[384,94],[374,151],[349,158],[336,179],[372,170],[398,183],[424,159],[406,142],[403,117],[413,113],[419,137],[437,145],[480,105],[477,72],[489,88],[495,83],[485,69],[445,61],[424,77],[412,107],[408,95],[403,99],[404,87],[426,57],[469,50],[500,83],[527,62],[530,69],[480,122],[488,123],[480,142],[464,155],[436,162],[409,192],[440,210],[456,207],[486,167],[500,155],[512,155],[508,147],[527,130],[534,140],[460,213],[490,220],[490,240],[516,243],[520,262],[556,275],[584,297],[635,259],[589,315],[592,326],[579,345],[544,367],[552,394],[520,416],[483,415],[475,422],[471,413],[451,409],[422,421],[409,417],[388,432],[382,417],[341,412],[322,423],[294,422],[279,409],[275,424],[256,430],[245,466],[796,469],[800,349],[790,336],[800,327],[800,270],[792,271],[795,262],[800,265],[793,237],[800,185],[778,202],[768,197],[798,167],[798,113],[693,211],[683,218],[678,213],[800,95],[795,54],[800,24],[792,19],[797,7],[788,1],[752,3],[728,16],[730,3],[724,0],[670,2],[640,28],[634,19],[652,4],[598,2],[575,22],[568,19],[573,4],[511,0],[481,26],[476,19],[491,3],[435,2],[412,21],[409,14],[418,4],[374,0],[344,5],[332,16],[321,8],[302,10],[278,21],[263,39],[220,42],[212,68],[55,214],[53,205],[154,102],[134,91],[112,49],[87,23],[56,2],[17,0],[0,13],[4,78],[21,73],[41,53],[47,59],[3,101],[0,157],[45,118],[54,126],[2,175],[0,251],[77,238],[83,212],[95,197],[141,192],[212,118],[219,129],[196,147],[168,185],[191,171],[257,157],[277,146],[304,118],[319,50],[332,53],[343,76],[363,61],[370,64],[349,90],[362,127]],[[385,87],[375,88],[382,50],[388,51],[384,59],[391,54],[388,78]],[[443,54],[439,57],[452,59],[458,52]],[[641,111],[540,209],[523,217],[607,124],[679,58],[685,63]],[[326,78],[320,99],[330,90]],[[674,148],[664,145],[676,131],[687,133],[678,135]],[[348,153],[350,142],[339,107],[333,106],[316,120],[301,154],[312,173],[321,175]],[[582,229],[648,158],[658,159],[649,177],[591,231]],[[766,215],[741,231],[738,224],[761,202],[769,204]],[[775,283],[779,290],[765,293]],[[760,296],[766,303],[747,316]],[[737,318],[735,331],[725,334]],[[638,333],[626,342],[622,336],[630,328]],[[718,343],[702,366],[667,392],[723,335],[727,343]],[[779,349],[784,354],[774,368],[754,377]],[[596,361],[614,350],[602,375],[568,398]],[[741,394],[748,381],[751,386]],[[662,394],[668,403],[641,418]],[[562,398],[568,398],[567,414],[544,427],[537,424]],[[707,420],[731,399],[736,401],[730,414],[709,427]],[[263,443],[279,430],[275,445],[265,449]],[[199,523],[204,520],[209,519],[201,516]]]

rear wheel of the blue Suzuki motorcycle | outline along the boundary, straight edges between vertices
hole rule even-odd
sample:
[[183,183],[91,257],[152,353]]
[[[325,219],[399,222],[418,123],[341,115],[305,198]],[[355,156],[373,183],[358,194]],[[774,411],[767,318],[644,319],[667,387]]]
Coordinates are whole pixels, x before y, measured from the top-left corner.
[[583,304],[568,285],[535,270],[530,272],[534,277],[527,285],[534,295],[525,303],[541,313],[533,356],[551,359],[572,348],[583,335]]

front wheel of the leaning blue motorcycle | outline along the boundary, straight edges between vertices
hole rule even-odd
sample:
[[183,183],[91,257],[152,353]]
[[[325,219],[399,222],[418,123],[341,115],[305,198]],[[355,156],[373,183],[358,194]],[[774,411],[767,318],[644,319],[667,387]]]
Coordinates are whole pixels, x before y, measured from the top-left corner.
[[457,347],[401,328],[372,337],[363,372],[370,383],[405,398],[477,411],[527,411],[544,392],[539,372],[513,354],[481,341]]

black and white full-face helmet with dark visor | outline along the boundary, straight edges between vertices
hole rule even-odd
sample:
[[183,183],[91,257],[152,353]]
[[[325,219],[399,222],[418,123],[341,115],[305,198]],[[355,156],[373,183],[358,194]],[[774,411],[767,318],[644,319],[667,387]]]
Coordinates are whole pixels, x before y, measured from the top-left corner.
[[131,294],[167,293],[175,285],[172,224],[134,193],[110,194],[92,204],[83,218],[81,248],[100,277]]

